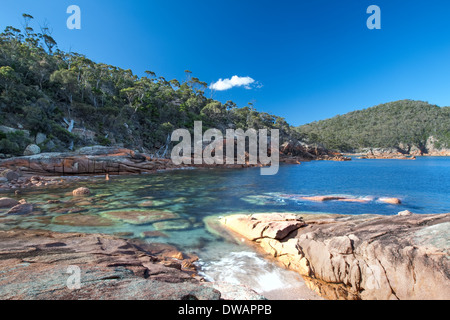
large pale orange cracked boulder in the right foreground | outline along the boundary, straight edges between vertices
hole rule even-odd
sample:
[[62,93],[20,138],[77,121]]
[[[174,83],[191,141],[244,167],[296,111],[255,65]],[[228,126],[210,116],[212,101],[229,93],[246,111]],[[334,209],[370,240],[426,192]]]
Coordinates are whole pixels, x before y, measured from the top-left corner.
[[450,299],[450,214],[253,214],[221,223],[327,299]]

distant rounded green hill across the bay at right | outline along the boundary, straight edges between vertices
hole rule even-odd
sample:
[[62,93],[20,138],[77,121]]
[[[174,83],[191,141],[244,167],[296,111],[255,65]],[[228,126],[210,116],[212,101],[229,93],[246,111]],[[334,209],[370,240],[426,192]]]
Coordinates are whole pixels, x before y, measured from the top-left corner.
[[450,147],[450,107],[423,101],[401,100],[312,122],[296,130],[310,143],[354,152],[364,148],[396,148],[408,153],[417,148]]

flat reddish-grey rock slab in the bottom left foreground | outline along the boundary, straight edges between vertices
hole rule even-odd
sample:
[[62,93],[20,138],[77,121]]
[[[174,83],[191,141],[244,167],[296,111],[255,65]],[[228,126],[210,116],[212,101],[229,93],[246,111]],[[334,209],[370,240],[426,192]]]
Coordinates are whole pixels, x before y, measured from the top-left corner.
[[[216,300],[176,251],[99,235],[0,231],[0,299],[13,300]],[[158,251],[159,250],[159,251]],[[184,258],[178,255],[178,258]],[[73,270],[80,271],[74,288]],[[68,285],[69,284],[69,285]]]

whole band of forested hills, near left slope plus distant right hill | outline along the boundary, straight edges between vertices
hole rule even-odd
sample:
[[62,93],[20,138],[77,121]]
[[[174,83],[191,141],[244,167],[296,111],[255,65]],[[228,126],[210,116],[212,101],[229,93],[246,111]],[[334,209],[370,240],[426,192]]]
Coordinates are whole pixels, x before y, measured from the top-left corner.
[[[87,145],[123,145],[161,156],[174,129],[280,129],[282,141],[304,140],[343,152],[450,147],[450,107],[403,100],[350,112],[298,128],[283,118],[208,98],[207,84],[185,71],[182,80],[98,63],[58,49],[49,28],[0,34],[0,154],[22,155],[31,143],[42,152]],[[432,137],[432,138],[431,138]]]

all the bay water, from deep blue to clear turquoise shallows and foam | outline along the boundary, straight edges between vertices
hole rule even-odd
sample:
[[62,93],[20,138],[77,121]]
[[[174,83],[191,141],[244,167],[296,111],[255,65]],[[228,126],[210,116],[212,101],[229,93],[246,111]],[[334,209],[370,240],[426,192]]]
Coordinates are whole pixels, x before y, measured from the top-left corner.
[[[93,195],[74,199],[71,191],[79,186],[88,186]],[[299,198],[315,195],[342,195],[369,201],[318,203]],[[26,191],[20,197],[36,204],[41,215],[6,216],[5,211],[0,211],[1,229],[99,232],[130,238],[159,230],[162,236],[145,241],[170,243],[182,251],[196,253],[206,278],[246,284],[263,293],[301,284],[296,274],[277,267],[239,241],[215,232],[217,217],[256,212],[383,215],[402,210],[421,214],[450,212],[450,158],[313,161],[282,165],[275,176],[261,176],[258,168],[176,170],[112,177],[110,181],[97,178],[70,188]],[[382,203],[379,201],[382,197],[400,198],[402,204]],[[55,199],[62,203],[47,203]],[[78,210],[80,217],[99,217],[110,210],[163,210],[175,214],[176,219],[165,226],[126,221],[115,221],[110,226],[54,223],[69,210]]]

